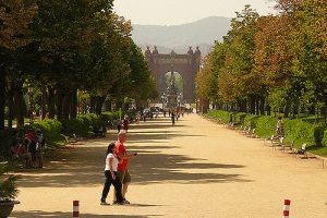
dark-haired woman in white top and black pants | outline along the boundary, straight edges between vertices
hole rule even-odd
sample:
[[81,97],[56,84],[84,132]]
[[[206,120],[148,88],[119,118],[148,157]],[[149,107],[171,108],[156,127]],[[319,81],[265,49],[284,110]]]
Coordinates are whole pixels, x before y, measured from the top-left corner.
[[117,158],[114,153],[116,153],[114,143],[110,143],[108,145],[107,155],[106,155],[106,167],[105,167],[106,182],[102,190],[101,205],[109,205],[106,202],[106,198],[108,196],[111,184],[114,186],[116,190],[117,204],[123,204],[123,197],[121,194],[122,184],[117,177],[117,166],[121,161]]

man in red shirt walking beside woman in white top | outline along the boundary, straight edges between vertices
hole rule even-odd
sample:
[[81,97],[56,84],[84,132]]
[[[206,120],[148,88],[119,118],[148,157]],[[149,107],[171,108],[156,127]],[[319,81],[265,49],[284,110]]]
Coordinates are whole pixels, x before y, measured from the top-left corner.
[[126,148],[124,146],[125,142],[126,142],[126,132],[120,131],[118,133],[118,141],[114,143],[114,145],[117,147],[117,149],[116,149],[117,157],[123,159],[123,161],[121,164],[118,164],[117,174],[118,174],[118,179],[122,183],[122,196],[124,198],[124,203],[130,204],[130,202],[126,201],[126,198],[125,198],[125,194],[128,192],[129,184],[131,183],[131,175],[129,173],[129,158],[133,158],[137,154],[135,153],[135,154],[129,155],[126,152]]

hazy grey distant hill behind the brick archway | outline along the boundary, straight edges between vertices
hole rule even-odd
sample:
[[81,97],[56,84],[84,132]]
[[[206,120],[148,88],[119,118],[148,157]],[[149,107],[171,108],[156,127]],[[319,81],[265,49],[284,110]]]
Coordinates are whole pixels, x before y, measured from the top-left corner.
[[215,40],[221,41],[230,29],[231,19],[210,16],[193,23],[159,26],[133,25],[134,41],[145,49],[146,46],[158,46],[159,52],[186,52],[189,46],[199,46],[206,55]]

